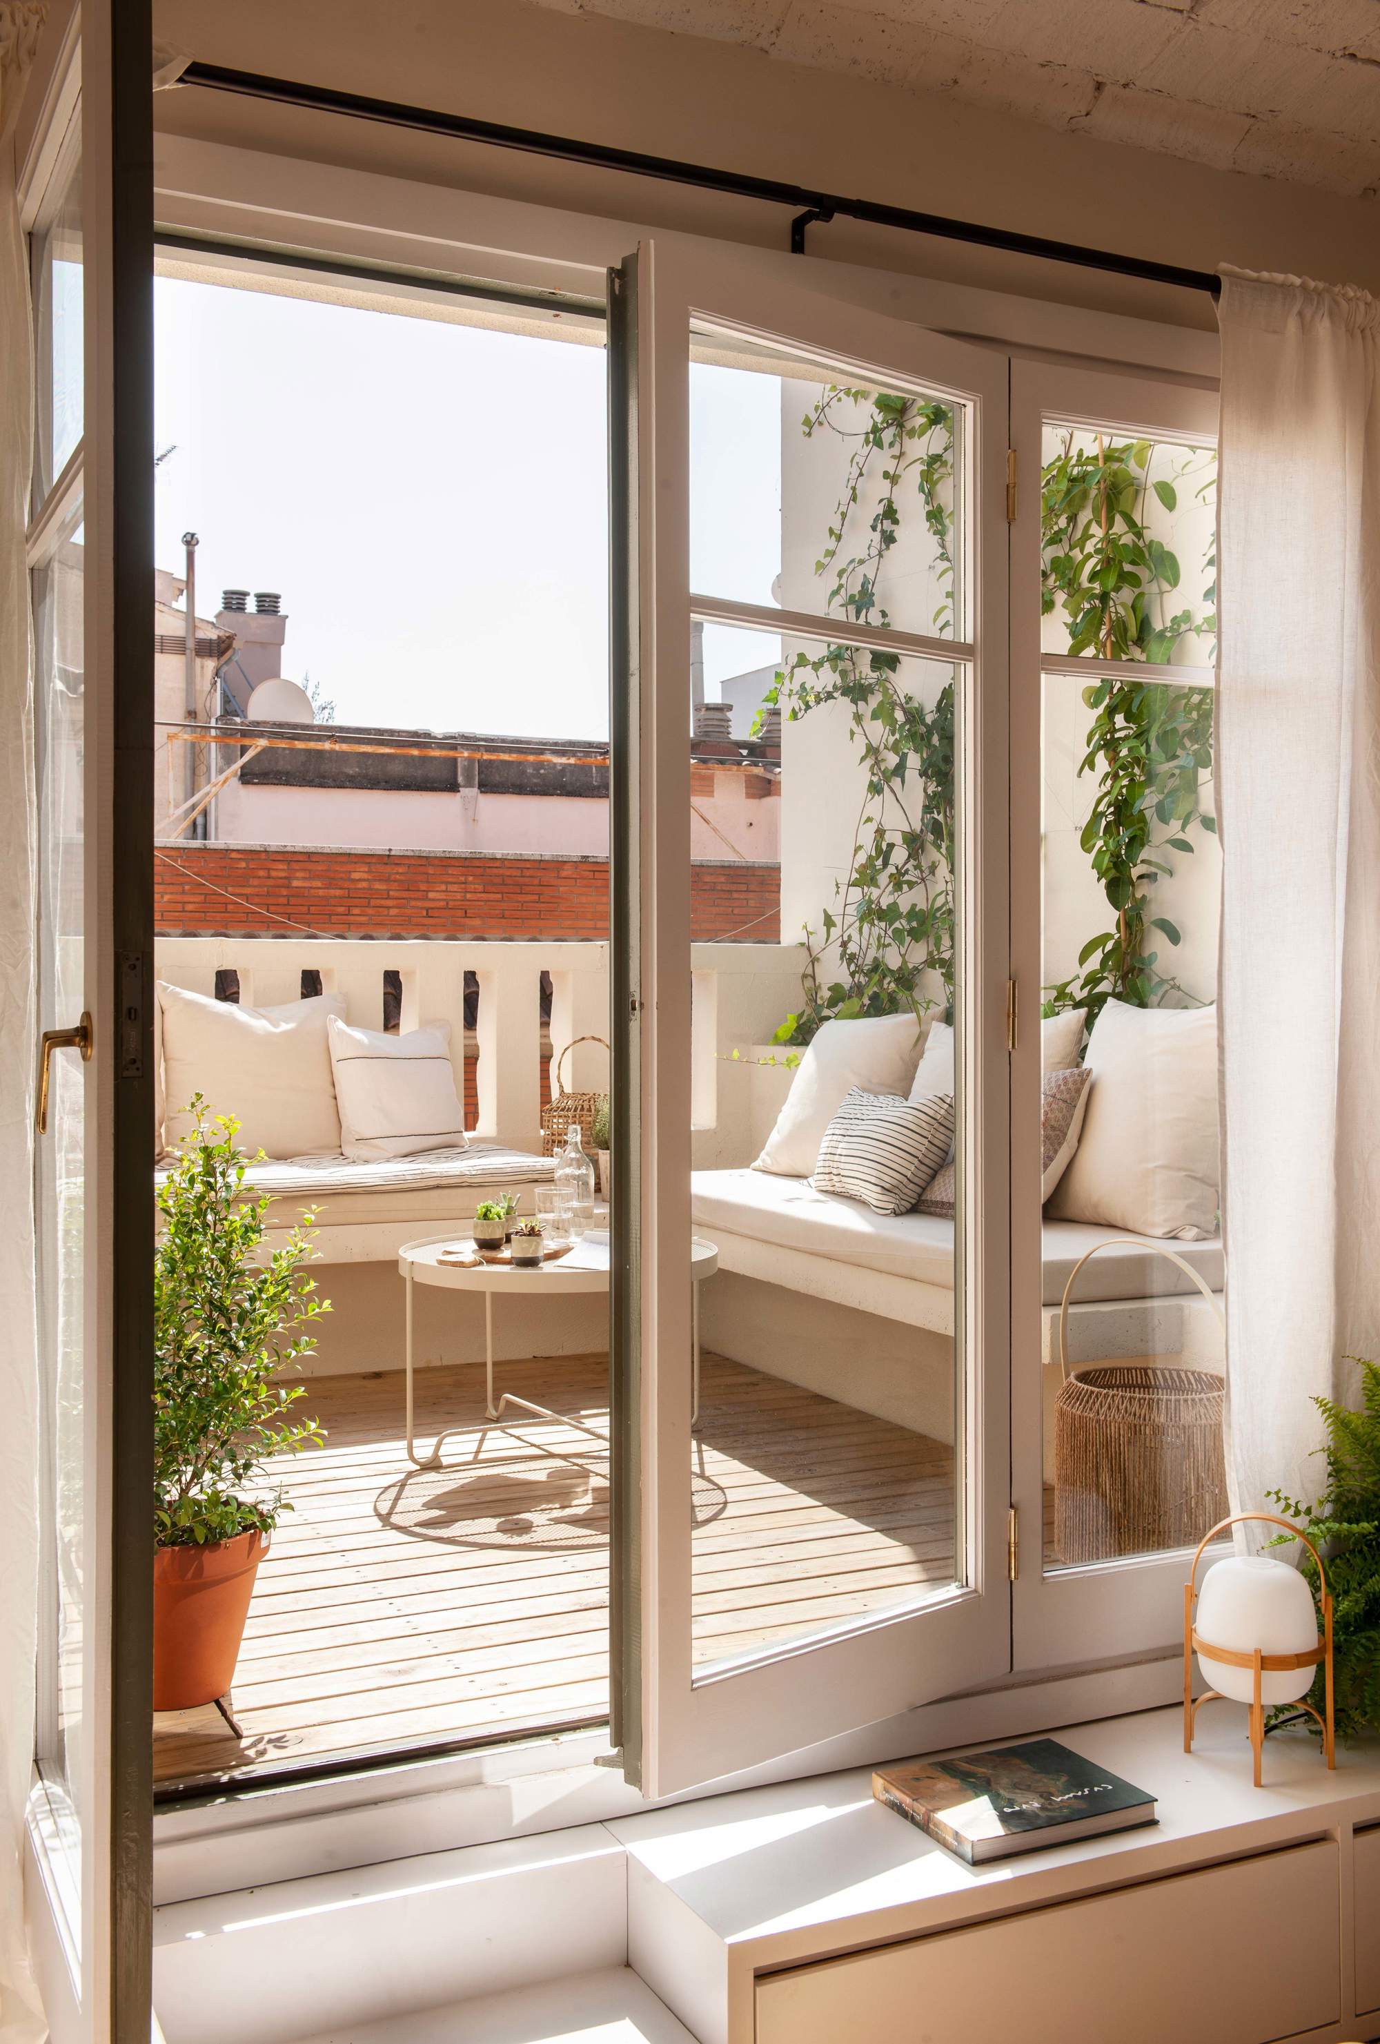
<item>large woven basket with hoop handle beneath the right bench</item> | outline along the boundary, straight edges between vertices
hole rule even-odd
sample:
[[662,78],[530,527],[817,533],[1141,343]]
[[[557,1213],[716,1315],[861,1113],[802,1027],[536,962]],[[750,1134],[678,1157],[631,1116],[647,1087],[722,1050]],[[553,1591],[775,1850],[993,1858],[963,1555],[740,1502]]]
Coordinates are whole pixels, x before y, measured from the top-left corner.
[[[1059,1308],[1055,1400],[1055,1551],[1061,1562],[1108,1562],[1120,1553],[1192,1547],[1227,1517],[1223,1380],[1174,1363],[1086,1363],[1069,1369],[1069,1298],[1096,1243],[1069,1271]],[[1223,1314],[1198,1271],[1178,1263]],[[1225,1333],[1225,1325],[1223,1325]]]

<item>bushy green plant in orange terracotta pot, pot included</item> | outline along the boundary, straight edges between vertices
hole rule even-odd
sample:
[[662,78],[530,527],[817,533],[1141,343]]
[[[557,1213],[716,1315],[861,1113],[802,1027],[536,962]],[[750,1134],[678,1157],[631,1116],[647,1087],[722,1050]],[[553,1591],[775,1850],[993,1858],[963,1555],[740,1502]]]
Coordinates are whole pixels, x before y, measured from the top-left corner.
[[292,1511],[264,1484],[270,1455],[319,1445],[290,1419],[305,1386],[282,1384],[329,1312],[315,1296],[311,1214],[260,1261],[268,1196],[245,1198],[239,1124],[194,1128],[157,1194],[153,1255],[153,1709],[215,1703],[231,1686],[254,1578]]

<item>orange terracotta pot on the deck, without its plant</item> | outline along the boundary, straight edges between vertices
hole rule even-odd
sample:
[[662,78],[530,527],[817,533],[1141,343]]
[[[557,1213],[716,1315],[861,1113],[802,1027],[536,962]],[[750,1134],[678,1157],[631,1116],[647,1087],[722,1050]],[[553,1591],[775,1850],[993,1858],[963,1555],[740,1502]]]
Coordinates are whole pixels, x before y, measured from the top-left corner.
[[231,1686],[268,1533],[153,1551],[153,1709],[190,1711]]

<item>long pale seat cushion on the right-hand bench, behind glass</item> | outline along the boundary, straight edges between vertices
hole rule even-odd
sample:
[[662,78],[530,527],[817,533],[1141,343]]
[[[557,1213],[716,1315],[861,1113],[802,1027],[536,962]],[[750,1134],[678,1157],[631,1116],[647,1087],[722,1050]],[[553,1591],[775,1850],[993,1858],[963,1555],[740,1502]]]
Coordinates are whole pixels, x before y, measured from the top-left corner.
[[[763,1171],[691,1173],[691,1220],[781,1249],[832,1257],[893,1278],[953,1288],[953,1220],[934,1214],[873,1214],[861,1200],[816,1192],[803,1177],[769,1177]],[[1153,1298],[1192,1292],[1192,1282],[1153,1247],[1120,1228],[1047,1220],[1045,1304],[1063,1298],[1069,1271],[1094,1243],[1114,1241],[1082,1271],[1077,1300]],[[1223,1290],[1223,1245],[1174,1243],[1212,1292]]]

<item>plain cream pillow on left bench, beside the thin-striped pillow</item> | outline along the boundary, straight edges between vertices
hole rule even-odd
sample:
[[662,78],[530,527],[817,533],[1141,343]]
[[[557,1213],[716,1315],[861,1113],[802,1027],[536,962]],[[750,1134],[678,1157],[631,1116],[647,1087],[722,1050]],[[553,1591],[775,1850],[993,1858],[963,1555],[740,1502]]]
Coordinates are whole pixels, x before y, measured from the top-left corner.
[[157,983],[164,1010],[164,1120],[168,1149],[192,1130],[186,1112],[200,1094],[213,1114],[233,1114],[239,1145],[254,1157],[329,1157],[339,1149],[339,1114],[329,1016],[341,993],[313,993],[278,1008],[241,1008]]

